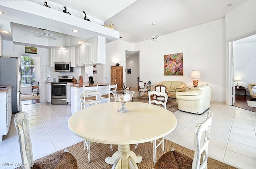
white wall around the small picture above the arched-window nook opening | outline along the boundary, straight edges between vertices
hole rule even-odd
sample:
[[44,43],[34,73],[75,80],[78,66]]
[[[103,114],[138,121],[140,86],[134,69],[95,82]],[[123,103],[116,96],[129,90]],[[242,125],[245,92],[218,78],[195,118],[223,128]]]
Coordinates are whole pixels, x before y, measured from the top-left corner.
[[46,78],[45,75],[48,73],[50,67],[50,49],[37,48],[37,54],[25,53],[25,46],[14,45],[14,57],[30,56],[41,58],[41,83],[40,83],[40,102],[46,102]]

